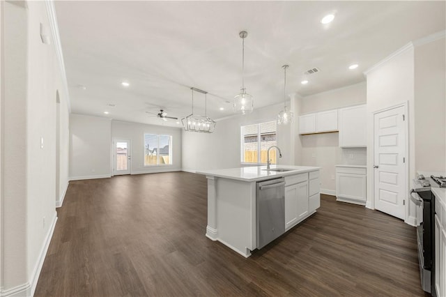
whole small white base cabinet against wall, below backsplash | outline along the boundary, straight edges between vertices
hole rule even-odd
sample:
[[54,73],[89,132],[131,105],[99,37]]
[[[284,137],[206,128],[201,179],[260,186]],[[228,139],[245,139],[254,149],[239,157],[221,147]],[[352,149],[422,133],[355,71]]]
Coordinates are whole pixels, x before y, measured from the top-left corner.
[[366,167],[337,165],[336,167],[336,199],[337,201],[365,205]]

